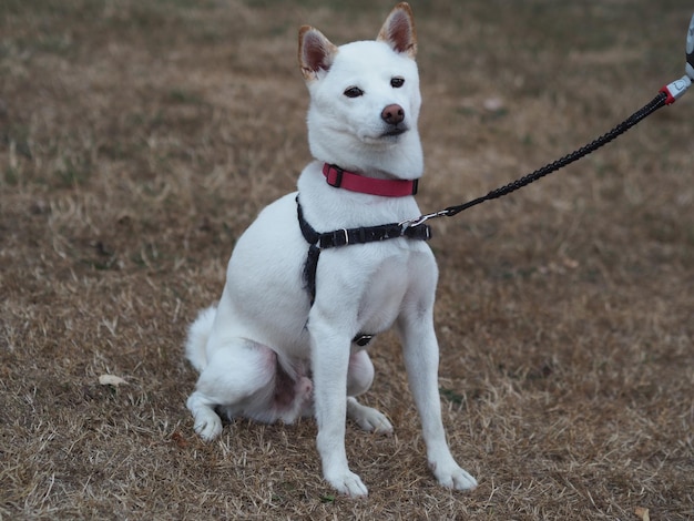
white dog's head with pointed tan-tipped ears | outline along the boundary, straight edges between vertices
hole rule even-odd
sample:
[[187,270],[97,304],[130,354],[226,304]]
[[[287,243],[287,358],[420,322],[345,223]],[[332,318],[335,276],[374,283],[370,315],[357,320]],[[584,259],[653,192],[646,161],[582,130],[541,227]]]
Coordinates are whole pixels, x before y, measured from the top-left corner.
[[299,30],[298,58],[310,93],[308,142],[319,161],[371,175],[416,178],[423,161],[412,11],[399,3],[375,41],[336,47]]

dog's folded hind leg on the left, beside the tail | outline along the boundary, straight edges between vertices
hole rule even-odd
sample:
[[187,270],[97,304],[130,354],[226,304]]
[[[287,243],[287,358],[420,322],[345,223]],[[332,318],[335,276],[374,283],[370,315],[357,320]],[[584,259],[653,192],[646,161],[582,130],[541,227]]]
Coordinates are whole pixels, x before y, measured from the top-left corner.
[[228,416],[254,412],[244,416],[257,417],[268,412],[261,408],[272,399],[276,369],[276,355],[268,347],[241,338],[220,346],[210,356],[186,403],[195,431],[205,440],[220,436],[222,420],[216,407],[224,408]]

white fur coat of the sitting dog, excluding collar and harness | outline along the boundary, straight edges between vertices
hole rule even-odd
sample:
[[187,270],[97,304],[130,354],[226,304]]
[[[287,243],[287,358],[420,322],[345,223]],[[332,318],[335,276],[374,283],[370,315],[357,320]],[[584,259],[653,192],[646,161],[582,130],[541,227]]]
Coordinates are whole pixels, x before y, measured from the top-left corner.
[[[307,222],[319,232],[420,214],[411,196],[334,188],[320,171],[327,162],[379,178],[422,174],[416,50],[406,3],[391,11],[376,41],[337,48],[316,29],[300,29],[299,64],[310,93],[308,139],[316,161],[302,172],[298,193]],[[404,84],[394,86],[394,78]],[[347,96],[350,88],[361,95]],[[388,135],[392,125],[381,116],[394,104],[405,113],[399,126],[407,131],[399,135]],[[392,426],[356,399],[369,389],[374,366],[351,340],[395,325],[429,467],[446,487],[476,487],[453,460],[441,421],[432,319],[438,272],[431,249],[407,238],[326,249],[312,306],[302,278],[308,245],[295,197],[288,194],[267,206],[241,236],[217,307],[203,310],[190,328],[186,355],[201,372],[187,400],[196,432],[206,440],[220,435],[215,408],[229,418],[287,423],[315,412],[325,479],[339,492],[365,496],[366,487],[347,464],[346,417],[371,431],[390,432]]]

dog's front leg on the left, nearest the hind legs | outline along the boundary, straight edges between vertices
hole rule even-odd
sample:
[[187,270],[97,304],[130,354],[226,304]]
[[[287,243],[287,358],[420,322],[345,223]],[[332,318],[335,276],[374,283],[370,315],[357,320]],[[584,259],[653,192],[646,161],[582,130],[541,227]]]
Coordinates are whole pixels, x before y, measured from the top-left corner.
[[308,329],[323,476],[340,493],[366,496],[361,479],[349,470],[345,451],[350,338],[340,334],[335,324],[317,319],[315,315]]

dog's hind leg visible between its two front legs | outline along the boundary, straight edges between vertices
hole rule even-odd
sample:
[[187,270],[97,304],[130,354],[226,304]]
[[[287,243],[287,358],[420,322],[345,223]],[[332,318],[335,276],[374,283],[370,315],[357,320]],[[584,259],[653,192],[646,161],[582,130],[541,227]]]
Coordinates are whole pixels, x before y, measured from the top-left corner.
[[351,355],[347,372],[347,417],[364,430],[388,435],[392,432],[392,425],[386,415],[355,398],[369,390],[372,381],[374,364],[368,354],[363,350]]

